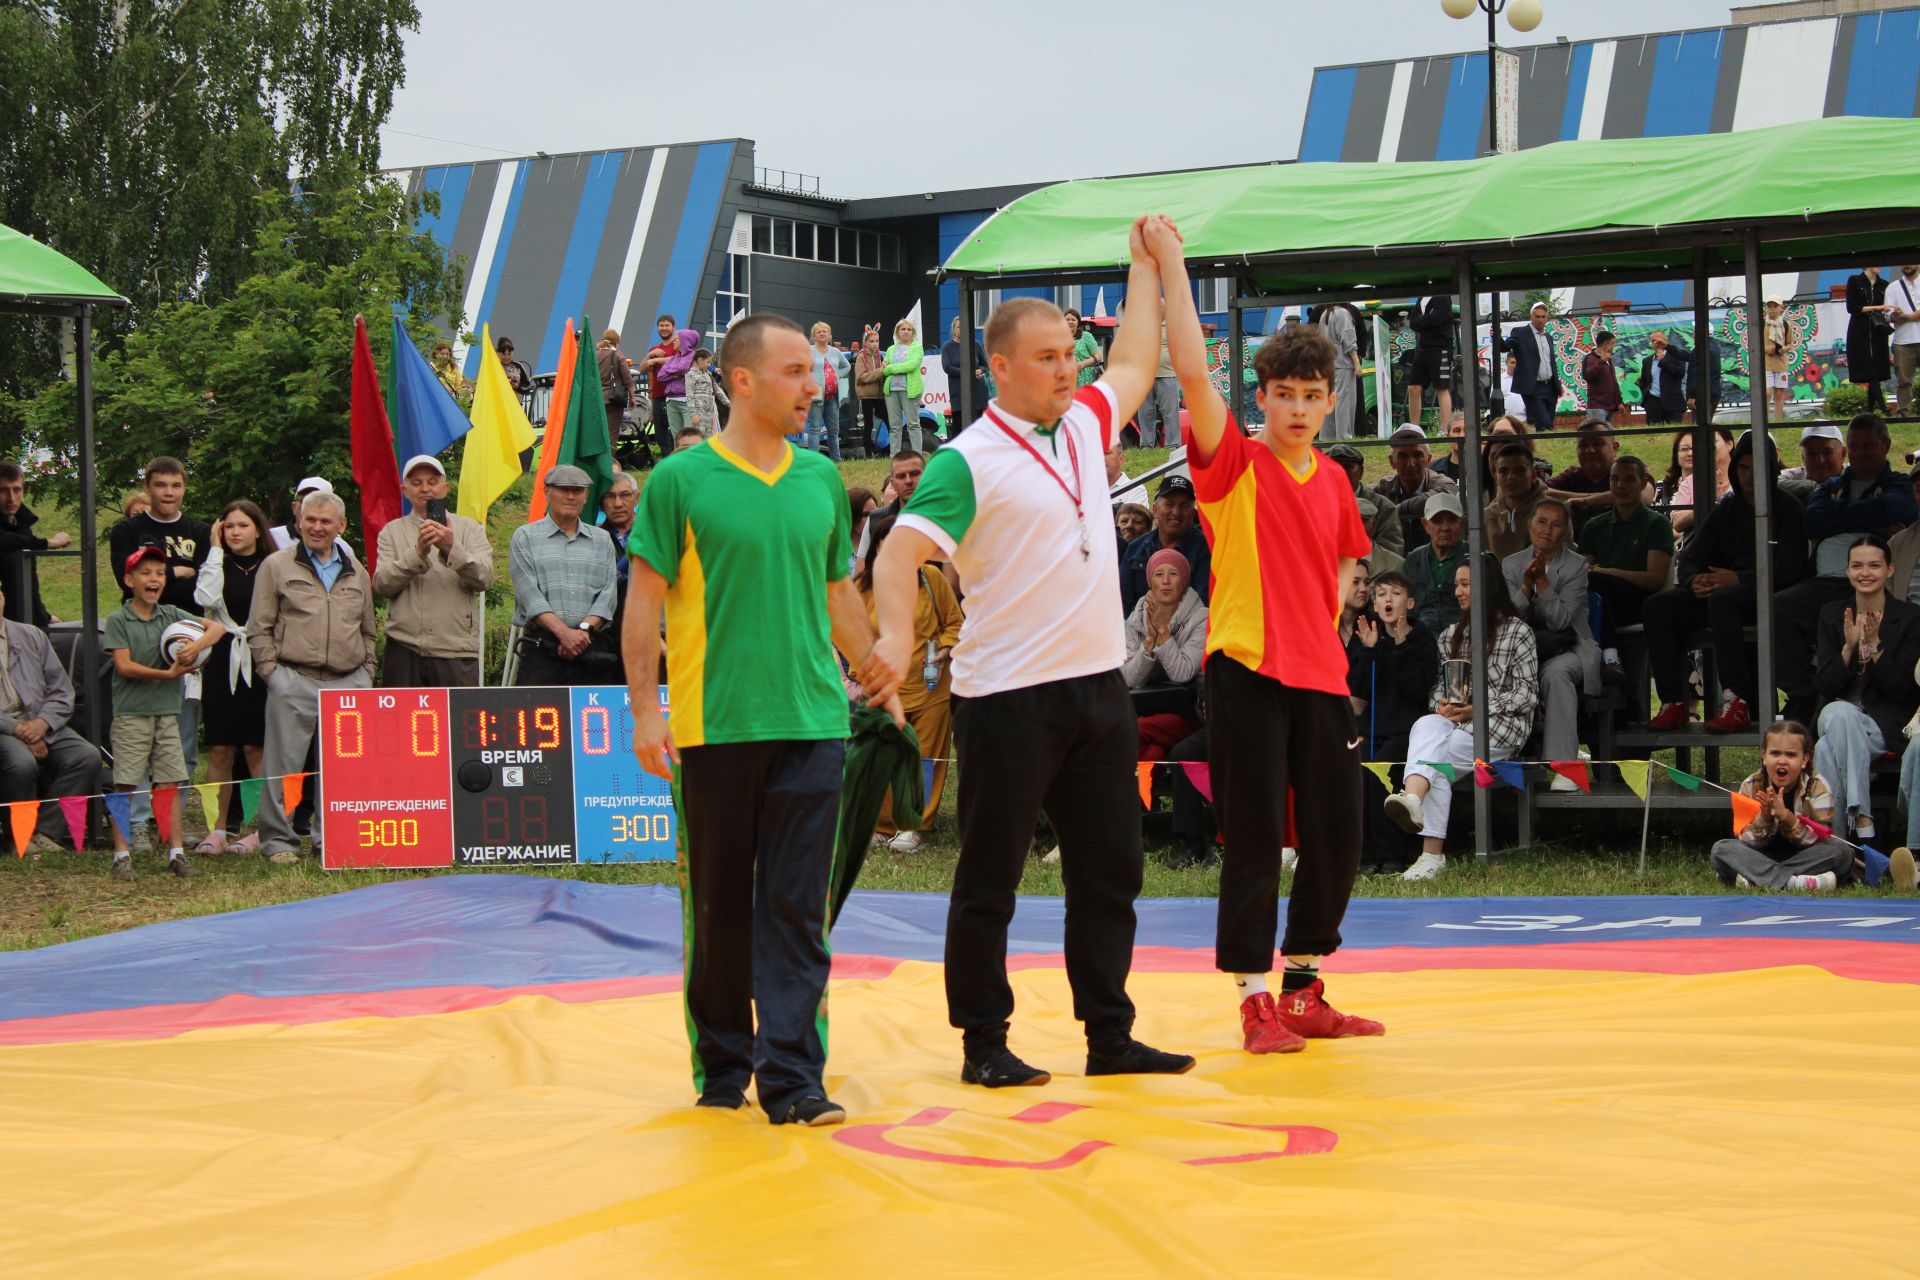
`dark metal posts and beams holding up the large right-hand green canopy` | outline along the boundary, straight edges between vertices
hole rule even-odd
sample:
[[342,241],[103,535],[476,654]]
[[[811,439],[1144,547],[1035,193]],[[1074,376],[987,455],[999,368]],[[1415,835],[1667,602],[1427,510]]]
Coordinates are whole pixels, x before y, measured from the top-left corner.
[[[1839,242],[1839,244],[1836,244]],[[1244,253],[1238,259],[1202,257],[1188,259],[1187,269],[1194,278],[1227,276],[1235,282],[1235,296],[1229,301],[1229,407],[1235,420],[1244,422],[1244,313],[1250,307],[1292,307],[1319,301],[1354,301],[1356,297],[1404,297],[1409,292],[1446,292],[1459,297],[1461,345],[1455,353],[1455,368],[1478,368],[1478,317],[1475,315],[1476,292],[1513,292],[1540,288],[1569,288],[1576,284],[1607,282],[1668,282],[1692,280],[1693,284],[1693,357],[1703,359],[1703,334],[1707,332],[1709,284],[1715,276],[1743,276],[1747,299],[1764,297],[1763,276],[1766,273],[1801,273],[1830,267],[1859,265],[1862,259],[1885,251],[1908,251],[1920,242],[1920,207],[1851,209],[1843,213],[1809,213],[1799,219],[1743,219],[1715,221],[1674,226],[1596,226],[1576,232],[1555,232],[1546,236],[1526,236],[1515,240],[1482,240],[1471,244],[1407,244],[1375,248],[1327,248],[1298,249],[1284,253]],[[1647,261],[1655,259],[1655,261]],[[1392,265],[1390,286],[1367,282],[1369,267]],[[1321,276],[1325,284],[1317,288],[1286,290],[1284,294],[1265,294],[1260,286],[1261,267],[1288,267],[1296,274]],[[1407,271],[1415,274],[1409,276]],[[1062,269],[1048,273],[979,273],[979,271],[935,271],[935,282],[952,278],[960,286],[960,367],[973,359],[973,292],[977,288],[1035,288],[1058,284],[1112,284],[1125,282],[1123,265],[1100,269]],[[1492,317],[1494,351],[1500,351],[1501,317]],[[1747,324],[1747,368],[1764,368],[1761,349],[1764,326]],[[1467,560],[1478,576],[1480,555],[1486,547],[1482,514],[1484,484],[1480,476],[1480,420],[1478,378],[1465,378],[1455,401],[1467,415],[1467,438],[1463,441],[1465,499],[1467,499]],[[1766,434],[1766,395],[1749,395],[1749,430]],[[975,416],[973,380],[960,384],[960,420],[972,422]],[[1697,416],[1697,415],[1695,415]],[[1693,457],[1713,457],[1715,422],[1693,424]],[[1766,438],[1768,443],[1772,438]],[[1774,461],[1778,466],[1778,459]],[[1763,706],[1770,712],[1776,702],[1774,691],[1774,626],[1768,601],[1774,593],[1772,572],[1772,486],[1755,484],[1753,503],[1753,541],[1755,541],[1755,624],[1759,647],[1759,691]],[[1695,486],[1693,501],[1699,518],[1705,518],[1715,495],[1711,486]],[[1475,635],[1486,633],[1486,597],[1475,581],[1469,604],[1469,620]],[[1486,760],[1486,664],[1473,664],[1473,745],[1475,756]],[[1482,787],[1473,789],[1475,814],[1475,852],[1484,860],[1492,854],[1492,814],[1490,796]]]

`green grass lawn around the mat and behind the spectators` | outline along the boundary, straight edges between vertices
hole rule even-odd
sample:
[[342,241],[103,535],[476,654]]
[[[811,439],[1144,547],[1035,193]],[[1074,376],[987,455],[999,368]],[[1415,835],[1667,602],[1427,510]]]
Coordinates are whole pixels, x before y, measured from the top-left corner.
[[[1784,445],[1784,455],[1793,459],[1797,449],[1797,430],[1776,432]],[[1920,428],[1903,426],[1895,432],[1895,459],[1907,449],[1920,445]],[[1667,445],[1663,438],[1636,438],[1626,445],[1638,451],[1657,470],[1665,470]],[[1572,464],[1572,441],[1548,441],[1542,453],[1557,466]],[[1127,455],[1127,474],[1139,476],[1165,459],[1164,449],[1135,449]],[[1386,474],[1384,451],[1367,451],[1369,474]],[[1897,462],[1899,464],[1899,462]],[[885,459],[866,459],[841,464],[847,484],[858,484],[879,491],[885,484]],[[641,476],[645,480],[645,476]],[[511,591],[507,589],[507,539],[513,530],[526,520],[526,503],[532,493],[532,480],[522,478],[492,512],[488,533],[493,543],[499,581],[488,593],[488,664],[497,679],[501,645],[513,614]],[[217,507],[211,495],[194,495],[190,507],[207,514]],[[111,524],[102,514],[102,541],[96,551],[100,560],[100,610],[102,616],[119,606],[119,593],[111,585],[106,568],[106,528]],[[40,532],[77,530],[73,512],[52,509],[40,510]],[[81,581],[79,558],[52,558],[40,566],[42,595],[48,608],[61,618],[79,614]],[[1726,770],[1751,768],[1751,752],[1728,752]],[[899,889],[945,892],[952,883],[952,862],[956,854],[952,835],[952,787],[947,791],[947,812],[939,829],[920,854],[904,856],[889,850],[874,850],[866,860],[860,885],[866,889]],[[190,823],[198,821],[198,804],[190,802]],[[1663,818],[1661,833],[1649,850],[1647,873],[1636,873],[1640,846],[1638,821],[1607,823],[1586,818],[1555,827],[1544,816],[1542,841],[1524,852],[1496,858],[1484,865],[1471,856],[1455,856],[1448,873],[1430,885],[1404,885],[1396,879],[1363,877],[1357,894],[1363,896],[1513,896],[1513,894],[1703,894],[1724,892],[1707,869],[1707,844],[1720,835],[1724,819],[1697,819],[1676,823]],[[1154,841],[1148,841],[1148,896],[1213,896],[1219,889],[1219,873],[1213,869],[1171,869],[1158,860]],[[384,879],[413,879],[419,875],[467,875],[468,871],[340,871],[326,873],[311,862],[294,867],[275,867],[261,858],[202,858],[202,875],[192,881],[177,881],[165,873],[159,856],[138,854],[134,865],[138,879],[131,885],[117,885],[106,875],[106,854],[50,854],[40,860],[0,860],[0,950],[19,950],[67,942],[115,929],[177,919],[188,915],[207,915],[232,912],[275,902],[292,902],[319,894],[340,892],[372,885]],[[497,871],[495,871],[497,873]],[[568,879],[588,879],[624,885],[672,883],[672,864],[637,864],[614,867],[538,867],[509,871],[522,875],[549,875]],[[1283,883],[1283,892],[1286,885]],[[1039,860],[1027,865],[1021,892],[1058,894],[1062,890],[1058,867],[1048,867]],[[1851,890],[1872,894],[1874,890]]]

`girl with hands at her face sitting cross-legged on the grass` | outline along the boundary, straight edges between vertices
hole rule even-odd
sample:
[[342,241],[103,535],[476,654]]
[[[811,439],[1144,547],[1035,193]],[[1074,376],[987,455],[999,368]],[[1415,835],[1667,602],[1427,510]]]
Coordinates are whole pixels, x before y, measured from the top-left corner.
[[1766,725],[1761,768],[1740,783],[1740,794],[1759,800],[1761,812],[1738,841],[1715,842],[1713,869],[1720,881],[1743,889],[1832,892],[1853,873],[1853,846],[1830,835],[1834,791],[1812,771],[1807,725],[1797,720]]

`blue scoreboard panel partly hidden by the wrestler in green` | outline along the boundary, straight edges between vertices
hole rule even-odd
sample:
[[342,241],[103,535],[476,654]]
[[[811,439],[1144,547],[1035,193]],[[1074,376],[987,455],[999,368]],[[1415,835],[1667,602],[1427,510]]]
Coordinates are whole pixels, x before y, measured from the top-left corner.
[[[666,779],[634,758],[626,689],[574,689],[574,831],[580,862],[660,862],[674,856],[678,819]],[[666,712],[666,685],[660,685]]]

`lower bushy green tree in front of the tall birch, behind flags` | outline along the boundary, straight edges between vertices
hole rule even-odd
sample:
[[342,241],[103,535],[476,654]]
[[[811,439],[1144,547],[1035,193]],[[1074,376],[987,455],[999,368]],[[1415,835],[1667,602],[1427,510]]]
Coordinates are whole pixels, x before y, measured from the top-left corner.
[[[96,365],[94,480],[100,507],[136,487],[144,462],[186,462],[192,507],[211,514],[250,497],[280,510],[305,474],[334,482],[359,522],[348,451],[353,315],[369,315],[374,359],[390,365],[388,307],[422,345],[436,320],[461,317],[459,265],[413,232],[422,203],[390,178],[334,161],[298,194],[253,198],[255,246],[219,301],[161,303]],[[36,489],[79,501],[73,388],[27,403],[31,438],[60,462]]]

